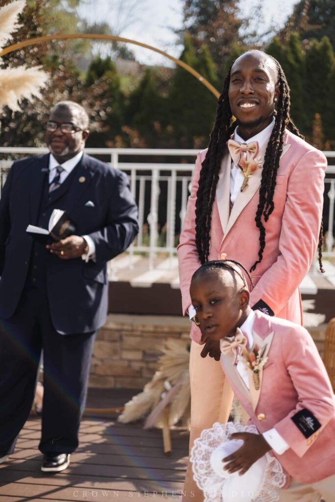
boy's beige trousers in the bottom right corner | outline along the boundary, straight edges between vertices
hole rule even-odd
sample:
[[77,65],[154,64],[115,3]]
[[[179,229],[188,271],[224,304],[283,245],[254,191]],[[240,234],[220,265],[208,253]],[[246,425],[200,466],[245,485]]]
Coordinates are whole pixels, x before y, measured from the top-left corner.
[[291,478],[286,490],[278,490],[278,502],[333,502],[335,500],[335,475],[311,484],[301,484]]

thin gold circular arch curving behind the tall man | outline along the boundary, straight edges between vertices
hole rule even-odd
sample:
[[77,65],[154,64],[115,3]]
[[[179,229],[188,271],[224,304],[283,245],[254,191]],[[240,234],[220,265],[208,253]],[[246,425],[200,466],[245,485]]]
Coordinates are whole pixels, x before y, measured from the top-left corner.
[[115,40],[118,42],[125,42],[126,44],[134,44],[138,45],[140,47],[144,47],[145,49],[149,49],[150,51],[158,52],[158,54],[161,54],[162,56],[170,59],[174,63],[176,63],[178,66],[181,66],[184,68],[188,73],[191,73],[199,82],[201,82],[207,89],[210,90],[212,94],[216,98],[219,97],[220,93],[218,92],[215,87],[208,82],[200,73],[198,73],[194,68],[189,66],[188,64],[184,63],[184,61],[181,61],[180,59],[174,58],[173,56],[170,56],[170,54],[167,54],[164,51],[161,51],[160,49],[157,49],[156,47],[153,47],[152,45],[148,44],[143,44],[142,42],[138,42],[137,40],[131,40],[130,38],[123,38],[123,37],[117,37],[116,35],[99,35],[97,33],[82,33],[82,34],[71,34],[71,35],[46,35],[44,37],[37,37],[37,38],[31,38],[28,40],[24,40],[23,42],[19,42],[18,44],[13,44],[10,45],[9,47],[6,47],[0,52],[0,57],[5,56],[5,54],[9,54],[10,52],[16,51],[18,49],[22,49],[23,47],[28,47],[30,45],[36,45],[36,44],[41,44],[42,42],[47,42],[50,40],[69,40],[69,39],[77,39],[77,38],[87,38],[87,39],[95,39],[95,40]]

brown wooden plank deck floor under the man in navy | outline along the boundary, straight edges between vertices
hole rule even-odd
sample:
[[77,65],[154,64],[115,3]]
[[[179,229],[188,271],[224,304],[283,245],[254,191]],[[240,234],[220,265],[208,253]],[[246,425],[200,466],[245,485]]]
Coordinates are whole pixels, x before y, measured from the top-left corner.
[[[120,406],[137,392],[94,389],[87,405]],[[14,454],[0,465],[0,502],[180,499],[188,455],[185,430],[171,432],[173,452],[167,457],[160,430],[143,430],[141,423],[119,424],[116,416],[84,417],[69,468],[48,475],[40,470],[40,426],[40,418],[30,417]]]

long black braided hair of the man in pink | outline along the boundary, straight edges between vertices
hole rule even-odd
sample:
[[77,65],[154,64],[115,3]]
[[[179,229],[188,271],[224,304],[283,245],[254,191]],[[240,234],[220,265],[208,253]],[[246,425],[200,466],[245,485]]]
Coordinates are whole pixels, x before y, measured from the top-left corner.
[[[251,267],[250,272],[253,272],[263,259],[266,231],[262,218],[264,218],[265,222],[268,221],[270,214],[274,210],[273,196],[276,187],[279,159],[283,151],[285,129],[293,133],[295,136],[304,139],[290,117],[290,88],[283,69],[275,58],[270,55],[267,56],[274,61],[277,67],[277,84],[280,95],[278,99],[277,112],[275,112],[275,125],[265,152],[261,186],[259,190],[259,203],[255,217],[256,226],[260,230],[260,249],[258,252],[258,260]],[[225,154],[227,142],[237,127],[237,120],[232,123],[233,114],[228,96],[231,70],[234,62],[235,61],[233,61],[229,68],[228,75],[224,81],[224,87],[218,98],[216,119],[210,135],[208,151],[204,161],[202,162],[199,177],[199,188],[195,203],[195,244],[201,264],[207,262],[209,255],[212,207],[221,167],[221,160]],[[322,268],[322,226],[321,222],[318,241],[318,261],[320,271],[324,272]]]

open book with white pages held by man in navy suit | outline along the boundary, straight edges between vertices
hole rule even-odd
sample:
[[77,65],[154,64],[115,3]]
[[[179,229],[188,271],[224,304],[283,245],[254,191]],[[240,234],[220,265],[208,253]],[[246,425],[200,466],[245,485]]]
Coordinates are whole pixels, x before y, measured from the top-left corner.
[[61,240],[69,235],[73,235],[76,227],[71,221],[68,213],[61,209],[54,209],[50,216],[48,230],[40,226],[28,225],[26,232],[32,235],[40,242],[47,242],[48,240]]

